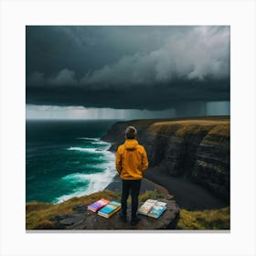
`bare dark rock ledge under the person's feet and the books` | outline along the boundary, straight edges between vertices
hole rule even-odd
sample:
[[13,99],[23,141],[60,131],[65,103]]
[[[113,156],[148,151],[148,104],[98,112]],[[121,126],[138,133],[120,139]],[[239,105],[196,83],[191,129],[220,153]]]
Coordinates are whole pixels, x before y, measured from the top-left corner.
[[[141,221],[136,226],[131,226],[130,221],[123,223],[118,218],[118,213],[114,214],[110,219],[103,218],[96,213],[87,209],[87,204],[79,204],[73,207],[71,214],[59,214],[49,219],[53,225],[51,229],[88,229],[88,230],[125,230],[125,229],[176,229],[179,219],[179,207],[174,200],[160,199],[165,202],[167,208],[159,219],[150,218],[140,215]],[[140,202],[139,206],[143,203]],[[131,209],[131,205],[128,205]],[[131,211],[128,210],[128,217]],[[45,229],[38,227],[37,229]]]

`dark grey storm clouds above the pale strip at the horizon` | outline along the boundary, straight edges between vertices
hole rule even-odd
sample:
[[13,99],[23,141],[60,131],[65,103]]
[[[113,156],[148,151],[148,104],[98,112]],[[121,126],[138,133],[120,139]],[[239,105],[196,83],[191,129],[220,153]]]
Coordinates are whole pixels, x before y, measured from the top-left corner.
[[26,29],[27,104],[189,109],[229,101],[229,27]]

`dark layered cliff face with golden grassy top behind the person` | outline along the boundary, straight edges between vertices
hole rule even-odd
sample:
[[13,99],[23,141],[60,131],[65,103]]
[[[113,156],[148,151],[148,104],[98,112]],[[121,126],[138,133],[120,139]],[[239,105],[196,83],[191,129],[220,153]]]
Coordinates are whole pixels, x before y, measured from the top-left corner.
[[115,123],[102,137],[112,151],[128,125],[137,128],[152,170],[184,176],[229,202],[229,117]]

